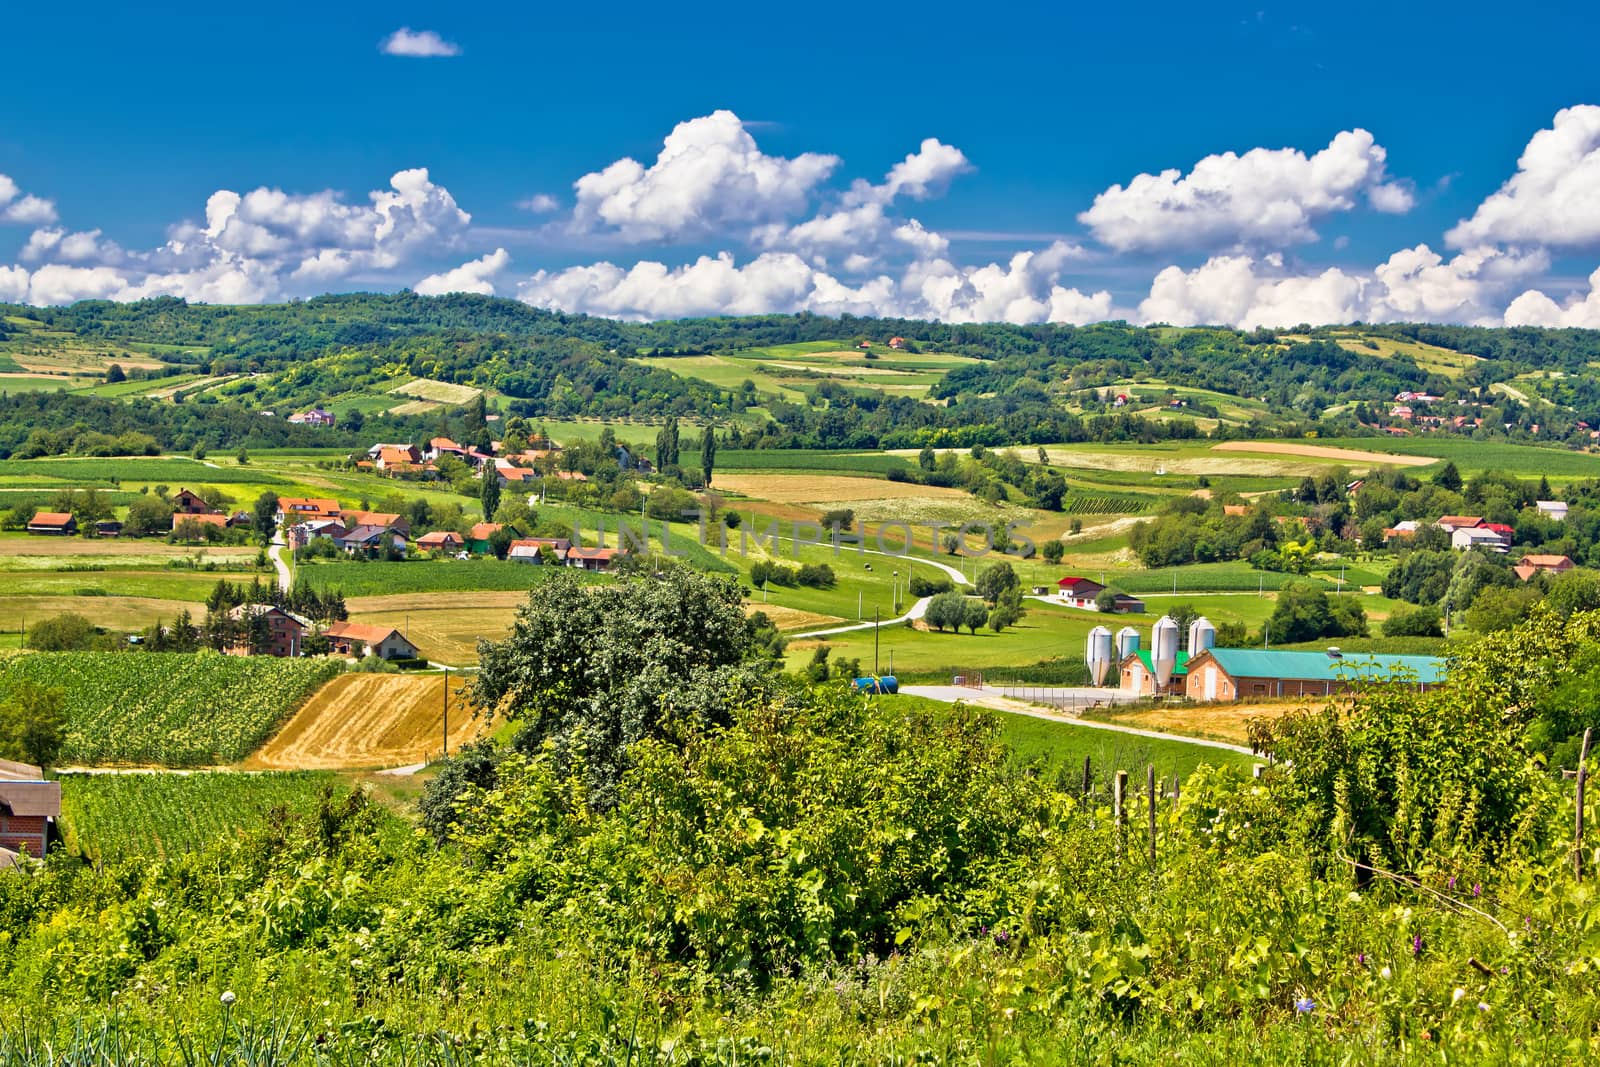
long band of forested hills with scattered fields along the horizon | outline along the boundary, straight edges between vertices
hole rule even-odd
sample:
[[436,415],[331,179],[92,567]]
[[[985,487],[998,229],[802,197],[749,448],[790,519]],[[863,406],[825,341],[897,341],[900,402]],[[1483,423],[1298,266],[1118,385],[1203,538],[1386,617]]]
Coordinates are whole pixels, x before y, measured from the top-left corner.
[[[717,421],[746,448],[1349,437],[1418,426],[1587,445],[1600,426],[1600,389],[1581,373],[1600,362],[1600,331],[1582,330],[1245,333],[808,314],[622,323],[413,293],[248,307],[86,301],[0,307],[0,322],[10,371],[0,454],[18,453],[34,430],[74,426],[142,432],[160,448],[354,445],[373,416],[387,421],[387,437],[416,437],[429,422],[418,416],[446,402],[394,395],[414,381],[478,390],[493,410],[525,418]],[[792,362],[830,347],[834,365]],[[886,354],[902,357],[901,373],[882,362]],[[1430,406],[1390,410],[1413,394]],[[203,405],[203,418],[186,405]],[[341,429],[302,434],[259,418],[312,405],[338,413]]]

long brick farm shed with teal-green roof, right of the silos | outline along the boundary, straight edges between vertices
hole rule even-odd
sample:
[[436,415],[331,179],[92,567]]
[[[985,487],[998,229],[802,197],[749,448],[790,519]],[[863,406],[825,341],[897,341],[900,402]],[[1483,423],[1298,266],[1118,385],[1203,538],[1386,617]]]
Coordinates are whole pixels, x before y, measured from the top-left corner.
[[1445,681],[1440,656],[1294,653],[1267,648],[1211,648],[1189,661],[1190,701],[1301,697],[1344,693],[1357,681],[1402,680],[1421,689]]

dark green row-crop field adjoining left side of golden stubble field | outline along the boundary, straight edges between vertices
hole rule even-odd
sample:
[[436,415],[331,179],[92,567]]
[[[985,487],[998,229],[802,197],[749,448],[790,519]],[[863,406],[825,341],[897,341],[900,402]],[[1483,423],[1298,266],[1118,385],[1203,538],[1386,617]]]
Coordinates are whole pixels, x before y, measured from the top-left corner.
[[338,659],[26,653],[0,661],[0,689],[26,678],[62,691],[61,765],[206,766],[250,755],[341,670]]

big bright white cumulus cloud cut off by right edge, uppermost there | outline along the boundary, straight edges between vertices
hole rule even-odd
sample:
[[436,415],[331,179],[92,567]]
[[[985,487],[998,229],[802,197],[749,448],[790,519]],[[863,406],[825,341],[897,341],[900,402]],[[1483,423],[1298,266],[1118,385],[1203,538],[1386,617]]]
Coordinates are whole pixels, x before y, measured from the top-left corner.
[[1528,141],[1517,173],[1445,240],[1454,248],[1600,245],[1600,107],[1557,112],[1550,128]]

